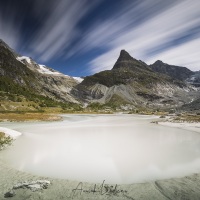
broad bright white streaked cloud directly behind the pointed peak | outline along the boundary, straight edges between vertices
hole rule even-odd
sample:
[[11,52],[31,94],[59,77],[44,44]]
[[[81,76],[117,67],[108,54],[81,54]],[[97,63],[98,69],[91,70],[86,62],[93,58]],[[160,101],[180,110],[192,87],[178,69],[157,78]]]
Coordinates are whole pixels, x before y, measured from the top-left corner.
[[[141,15],[150,6],[147,1],[144,2],[141,6],[143,9],[140,10]],[[90,72],[95,73],[111,69],[121,49],[126,49],[135,58],[142,59],[149,64],[157,59],[163,59],[165,62],[171,64],[187,65],[187,67],[197,70],[195,66],[200,67],[200,58],[197,53],[199,52],[199,39],[196,39],[197,36],[191,38],[195,39],[195,41],[185,41],[181,46],[171,46],[171,48],[166,48],[162,53],[159,52],[157,55],[148,56],[148,52],[151,52],[151,50],[161,45],[164,47],[172,45],[171,42],[174,39],[179,38],[183,33],[188,32],[194,27],[198,27],[200,24],[200,2],[198,0],[193,0],[192,3],[189,0],[176,1],[176,4],[172,5],[164,11],[158,12],[156,15],[152,13],[148,20],[137,26],[126,28],[125,31],[123,30],[125,25],[130,23],[132,20],[131,17],[134,18],[134,15],[124,13],[120,17],[122,20],[116,18],[112,22],[109,21],[110,29],[106,30],[106,36],[102,36],[103,38],[101,38],[100,43],[96,45],[100,47],[105,43],[110,50],[89,63]],[[90,35],[98,35],[99,30],[103,29],[104,26],[104,24],[99,24],[99,27],[93,33],[90,33]],[[113,28],[116,26],[122,28],[123,34],[118,34],[120,28]],[[110,41],[106,38],[109,35],[113,38]],[[90,37],[87,40],[90,41]]]

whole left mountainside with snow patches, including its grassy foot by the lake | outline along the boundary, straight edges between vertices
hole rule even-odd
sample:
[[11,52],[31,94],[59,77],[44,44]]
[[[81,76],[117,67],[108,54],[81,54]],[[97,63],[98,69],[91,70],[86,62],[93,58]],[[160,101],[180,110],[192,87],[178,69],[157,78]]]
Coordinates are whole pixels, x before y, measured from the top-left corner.
[[0,111],[44,112],[82,109],[70,90],[81,82],[15,53],[0,40]]

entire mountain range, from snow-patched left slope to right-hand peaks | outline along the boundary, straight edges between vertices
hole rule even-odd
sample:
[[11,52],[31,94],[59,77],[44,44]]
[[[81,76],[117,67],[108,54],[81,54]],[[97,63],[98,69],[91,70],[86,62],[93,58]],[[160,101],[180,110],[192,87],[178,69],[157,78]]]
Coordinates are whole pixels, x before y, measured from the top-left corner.
[[[171,70],[174,68],[176,73]],[[181,77],[177,77],[177,71],[181,71]],[[185,81],[190,74],[193,76],[187,68],[162,61],[147,65],[121,50],[111,70],[87,76],[82,81],[79,77],[73,78],[37,64],[33,59],[15,53],[4,42],[0,43],[2,95],[4,91],[9,92],[7,84],[14,88],[11,92],[26,95],[23,90],[31,91],[32,95],[63,103],[100,103],[115,109],[127,106],[130,109],[165,109],[181,107],[198,98],[197,91]]]

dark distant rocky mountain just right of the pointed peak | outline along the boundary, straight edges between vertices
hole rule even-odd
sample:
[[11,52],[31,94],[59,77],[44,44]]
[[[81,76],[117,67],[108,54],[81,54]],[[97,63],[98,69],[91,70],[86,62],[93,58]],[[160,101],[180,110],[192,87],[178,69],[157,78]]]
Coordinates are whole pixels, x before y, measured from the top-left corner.
[[166,74],[168,76],[171,76],[174,79],[178,79],[181,81],[185,81],[186,79],[194,75],[194,72],[189,70],[186,67],[169,65],[169,64],[163,63],[160,60],[157,60],[154,64],[149,65],[149,67],[155,72]]

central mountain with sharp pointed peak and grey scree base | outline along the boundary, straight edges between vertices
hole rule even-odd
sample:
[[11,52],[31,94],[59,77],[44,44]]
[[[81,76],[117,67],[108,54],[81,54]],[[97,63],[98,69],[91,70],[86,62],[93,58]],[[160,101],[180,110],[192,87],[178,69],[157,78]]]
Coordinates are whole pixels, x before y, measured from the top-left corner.
[[161,108],[191,101],[194,89],[182,80],[152,70],[122,50],[111,70],[85,77],[71,91],[82,101]]

